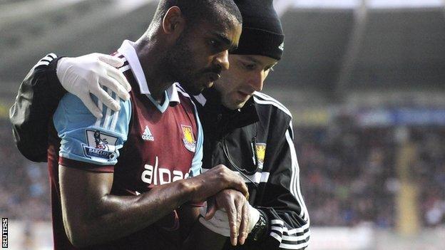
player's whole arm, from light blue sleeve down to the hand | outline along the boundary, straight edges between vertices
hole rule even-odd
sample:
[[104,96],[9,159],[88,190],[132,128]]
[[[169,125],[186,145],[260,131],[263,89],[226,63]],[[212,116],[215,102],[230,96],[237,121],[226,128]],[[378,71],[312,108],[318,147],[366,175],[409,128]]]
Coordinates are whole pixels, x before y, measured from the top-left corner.
[[[121,102],[116,120],[105,109],[98,120],[81,100],[68,94],[54,115],[62,140],[59,182],[63,225],[75,246],[127,236],[185,202],[202,202],[222,189],[235,188],[247,195],[243,180],[223,165],[196,177],[153,187],[139,196],[111,194],[113,165],[128,134],[128,103]],[[104,139],[107,143],[101,147]]]

